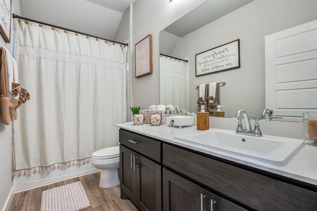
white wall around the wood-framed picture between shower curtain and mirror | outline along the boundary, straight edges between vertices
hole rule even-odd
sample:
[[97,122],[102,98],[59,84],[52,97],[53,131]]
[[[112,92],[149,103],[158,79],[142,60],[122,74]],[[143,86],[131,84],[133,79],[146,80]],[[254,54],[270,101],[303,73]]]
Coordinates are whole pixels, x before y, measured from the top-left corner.
[[[205,0],[137,0],[133,4],[132,41],[130,48],[152,34],[153,74],[135,78],[132,75],[133,105],[147,108],[159,104],[159,31],[190,12]],[[135,71],[134,54],[130,59]]]

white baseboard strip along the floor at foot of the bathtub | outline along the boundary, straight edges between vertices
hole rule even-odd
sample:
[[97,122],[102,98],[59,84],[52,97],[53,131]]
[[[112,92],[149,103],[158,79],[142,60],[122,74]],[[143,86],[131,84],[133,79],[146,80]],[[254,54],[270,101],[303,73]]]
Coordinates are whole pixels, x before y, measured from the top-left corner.
[[56,182],[61,182],[61,181],[67,180],[67,179],[72,179],[72,178],[84,176],[84,175],[87,175],[87,174],[92,174],[92,173],[95,173],[95,172],[98,172],[98,171],[100,171],[100,169],[92,168],[92,169],[89,169],[89,170],[80,171],[80,172],[68,174],[68,175],[65,175],[65,176],[58,176],[58,178],[53,178],[53,179],[51,178],[49,181],[41,180],[41,181],[38,181],[36,184],[29,185],[29,186],[24,186],[22,188],[17,188],[17,189],[15,189],[14,193],[19,193],[19,192],[27,191],[27,190],[34,189],[34,188],[39,188],[39,187],[42,187],[42,186],[45,186],[45,185],[50,185],[50,184],[53,184],[53,183],[56,183]]

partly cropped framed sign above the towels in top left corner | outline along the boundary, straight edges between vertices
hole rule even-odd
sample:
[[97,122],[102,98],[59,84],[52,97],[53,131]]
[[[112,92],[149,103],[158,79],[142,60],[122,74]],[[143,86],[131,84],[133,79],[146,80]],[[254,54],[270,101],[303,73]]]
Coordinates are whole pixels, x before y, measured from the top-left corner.
[[6,43],[10,43],[11,0],[0,1],[0,34]]

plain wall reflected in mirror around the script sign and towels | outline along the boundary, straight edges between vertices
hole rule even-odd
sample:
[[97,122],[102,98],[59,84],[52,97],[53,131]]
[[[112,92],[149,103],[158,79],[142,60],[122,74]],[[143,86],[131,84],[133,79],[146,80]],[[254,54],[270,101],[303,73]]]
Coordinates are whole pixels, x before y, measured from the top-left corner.
[[[245,109],[260,118],[265,108],[264,36],[316,20],[316,8],[316,0],[255,0],[184,36],[170,54],[190,56],[190,111],[198,111],[196,85],[226,81],[219,90],[225,116],[235,116],[237,110]],[[197,53],[237,39],[240,68],[196,77]]]

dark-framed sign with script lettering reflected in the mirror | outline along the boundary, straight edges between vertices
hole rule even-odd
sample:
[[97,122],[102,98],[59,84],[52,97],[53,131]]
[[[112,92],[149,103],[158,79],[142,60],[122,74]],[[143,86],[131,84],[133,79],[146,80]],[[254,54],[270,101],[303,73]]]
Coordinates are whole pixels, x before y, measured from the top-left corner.
[[240,39],[196,54],[196,77],[240,68]]

